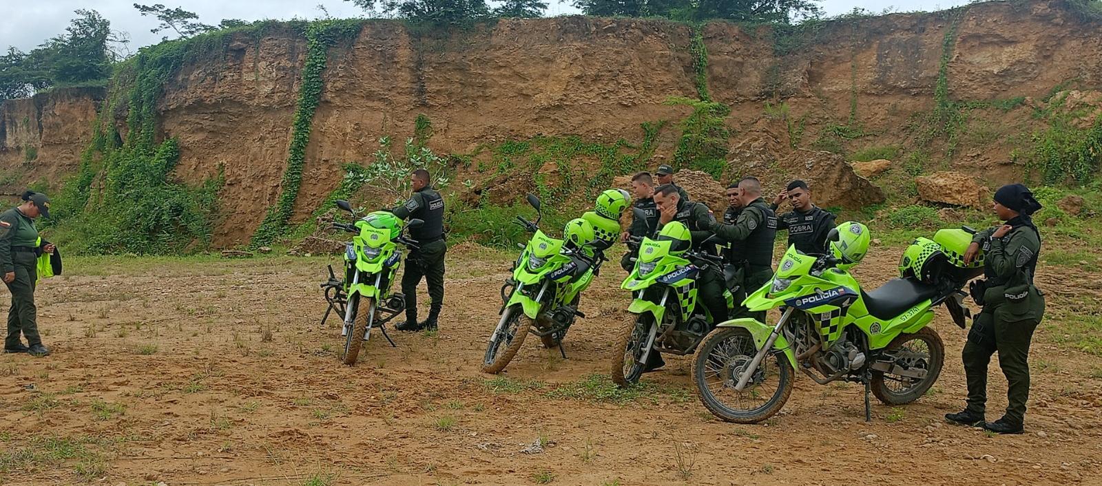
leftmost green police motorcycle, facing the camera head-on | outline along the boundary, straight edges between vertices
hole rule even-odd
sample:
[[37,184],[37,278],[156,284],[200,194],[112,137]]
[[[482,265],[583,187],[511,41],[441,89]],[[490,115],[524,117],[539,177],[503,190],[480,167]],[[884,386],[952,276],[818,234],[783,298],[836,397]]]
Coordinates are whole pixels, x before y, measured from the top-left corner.
[[[353,217],[358,216],[347,201],[337,201],[336,205]],[[345,337],[342,355],[345,365],[356,364],[359,349],[370,338],[372,327],[378,327],[387,342],[396,346],[387,334],[386,324],[406,310],[406,298],[390,291],[401,263],[399,245],[417,248],[417,241],[402,231],[423,223],[410,219],[403,225],[401,219],[386,210],[368,213],[348,224],[333,223],[335,229],[354,235],[352,241],[345,245],[344,278],[337,279],[329,266],[329,280],[322,284],[329,304],[322,325],[333,311],[344,315],[341,335]]]

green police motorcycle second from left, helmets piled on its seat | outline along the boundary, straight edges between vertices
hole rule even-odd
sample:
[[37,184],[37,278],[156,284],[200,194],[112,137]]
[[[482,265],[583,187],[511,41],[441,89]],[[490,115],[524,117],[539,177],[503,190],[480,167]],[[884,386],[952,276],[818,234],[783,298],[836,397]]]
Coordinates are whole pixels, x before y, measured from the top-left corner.
[[497,374],[520,350],[531,333],[544,347],[562,348],[566,331],[577,317],[582,292],[607,261],[605,240],[595,237],[593,225],[583,218],[572,219],[563,230],[563,239],[544,234],[540,199],[531,194],[528,203],[538,214],[534,222],[517,216],[517,222],[532,234],[512,266],[512,276],[501,287],[500,320],[490,334],[483,358],[483,371]]

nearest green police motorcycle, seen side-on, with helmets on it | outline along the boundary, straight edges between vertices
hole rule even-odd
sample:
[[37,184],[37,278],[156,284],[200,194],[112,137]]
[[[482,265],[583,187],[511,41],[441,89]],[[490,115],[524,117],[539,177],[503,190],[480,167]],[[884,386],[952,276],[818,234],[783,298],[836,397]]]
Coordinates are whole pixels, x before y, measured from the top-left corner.
[[944,304],[964,327],[961,290],[982,272],[982,258],[963,262],[969,228],[919,238],[900,259],[900,277],[866,292],[850,273],[868,249],[865,225],[847,222],[829,235],[830,253],[808,256],[790,247],[771,282],[747,296],[750,312],[780,309],[773,326],[754,318],[720,324],[696,350],[696,395],[728,422],[756,423],[777,413],[792,391],[796,370],[825,385],[865,386],[887,404],[910,403],[938,379],[944,346],[928,327]]

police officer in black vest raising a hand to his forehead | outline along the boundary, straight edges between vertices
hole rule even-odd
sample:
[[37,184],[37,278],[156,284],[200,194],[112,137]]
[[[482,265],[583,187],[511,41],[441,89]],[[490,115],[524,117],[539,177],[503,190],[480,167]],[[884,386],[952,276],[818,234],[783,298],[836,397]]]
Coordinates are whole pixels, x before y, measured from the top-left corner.
[[792,203],[792,210],[777,218],[777,229],[788,230],[788,245],[803,255],[823,255],[827,235],[834,228],[834,215],[811,204],[811,190],[803,181],[788,183],[788,188],[777,194],[769,207],[777,210],[785,198]]

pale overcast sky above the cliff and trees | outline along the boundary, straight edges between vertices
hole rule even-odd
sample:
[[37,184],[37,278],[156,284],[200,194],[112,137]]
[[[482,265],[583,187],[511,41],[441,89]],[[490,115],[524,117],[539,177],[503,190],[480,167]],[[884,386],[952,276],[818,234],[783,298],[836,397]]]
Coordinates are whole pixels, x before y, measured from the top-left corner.
[[[223,19],[316,19],[324,17],[318,4],[335,18],[360,17],[364,11],[345,0],[148,0],[152,4],[161,2],[168,7],[182,7],[199,15],[208,24],[217,24]],[[0,48],[14,45],[30,51],[45,39],[64,32],[76,9],[91,9],[111,21],[111,28],[130,35],[130,48],[154,44],[162,34],[150,33],[156,26],[153,18],[141,17],[133,8],[133,1],[121,0],[4,0],[0,15]],[[550,0],[548,15],[577,13],[570,1]],[[871,11],[883,11],[892,6],[895,11],[941,10],[968,3],[966,0],[823,0],[820,4],[828,15],[834,15],[860,7]]]

